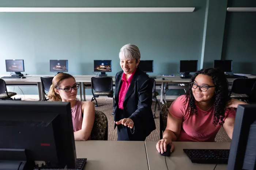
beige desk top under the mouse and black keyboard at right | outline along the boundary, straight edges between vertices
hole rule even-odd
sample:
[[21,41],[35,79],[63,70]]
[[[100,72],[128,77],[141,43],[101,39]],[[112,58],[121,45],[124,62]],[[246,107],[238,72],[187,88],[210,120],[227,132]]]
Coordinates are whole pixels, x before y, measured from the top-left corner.
[[[174,152],[170,157],[166,157],[166,163],[169,170],[213,170],[216,164],[192,163],[183,149],[229,149],[228,142],[173,142]],[[157,142],[145,142],[149,170],[165,170],[165,157],[161,156],[157,149]],[[215,170],[226,170],[227,164],[218,164]]]

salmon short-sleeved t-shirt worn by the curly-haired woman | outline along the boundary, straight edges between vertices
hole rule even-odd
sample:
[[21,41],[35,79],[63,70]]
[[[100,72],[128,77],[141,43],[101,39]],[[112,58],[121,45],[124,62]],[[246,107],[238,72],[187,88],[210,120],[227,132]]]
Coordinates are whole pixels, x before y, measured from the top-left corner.
[[[214,142],[221,125],[214,126],[214,107],[203,111],[196,105],[197,115],[189,114],[188,100],[185,95],[179,96],[170,106],[169,112],[176,119],[182,119],[181,132],[177,141],[180,142]],[[233,108],[227,108],[225,111],[225,120],[227,117],[235,117],[236,111]],[[221,122],[221,120],[219,120]]]

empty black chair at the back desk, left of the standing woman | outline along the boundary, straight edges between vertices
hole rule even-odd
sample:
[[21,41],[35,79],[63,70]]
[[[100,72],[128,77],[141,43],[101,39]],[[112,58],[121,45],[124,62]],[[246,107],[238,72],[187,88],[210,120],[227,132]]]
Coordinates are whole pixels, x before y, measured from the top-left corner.
[[[95,91],[93,91],[95,90]],[[114,107],[114,92],[113,92],[113,80],[112,77],[92,77],[91,78],[91,92],[93,93],[93,98],[91,101],[96,101],[95,107],[98,106],[96,97],[108,96],[113,98]]]

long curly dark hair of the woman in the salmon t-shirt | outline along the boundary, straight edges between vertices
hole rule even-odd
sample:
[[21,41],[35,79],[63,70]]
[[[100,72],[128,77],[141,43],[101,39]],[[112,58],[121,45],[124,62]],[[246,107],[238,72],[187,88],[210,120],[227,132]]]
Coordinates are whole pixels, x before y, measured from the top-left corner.
[[[215,94],[214,94],[214,121],[213,124],[216,126],[217,124],[223,125],[224,121],[223,118],[225,117],[225,110],[226,105],[228,101],[230,100],[229,97],[229,83],[227,81],[227,78],[225,76],[225,73],[220,69],[201,69],[198,70],[193,77],[191,78],[191,82],[194,82],[196,76],[198,74],[204,74],[207,76],[212,77],[212,82],[215,85]],[[197,109],[195,105],[195,98],[193,96],[192,92],[192,85],[190,83],[189,89],[185,93],[186,98],[188,99],[188,109],[190,111],[190,114],[196,114],[197,115]],[[221,121],[219,122],[219,119]]]

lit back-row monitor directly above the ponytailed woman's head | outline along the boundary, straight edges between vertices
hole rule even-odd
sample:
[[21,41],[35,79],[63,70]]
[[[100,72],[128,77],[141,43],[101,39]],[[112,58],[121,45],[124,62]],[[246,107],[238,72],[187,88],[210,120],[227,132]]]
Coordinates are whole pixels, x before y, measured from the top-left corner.
[[68,72],[68,60],[50,60],[50,72],[63,73]]

